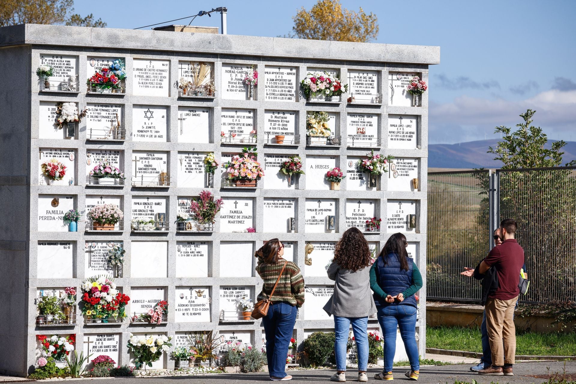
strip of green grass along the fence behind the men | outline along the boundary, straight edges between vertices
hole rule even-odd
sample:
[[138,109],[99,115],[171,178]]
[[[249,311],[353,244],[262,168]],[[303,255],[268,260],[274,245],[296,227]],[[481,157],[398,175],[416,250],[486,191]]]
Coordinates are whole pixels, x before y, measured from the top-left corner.
[[[426,347],[482,352],[480,328],[427,327]],[[517,331],[516,355],[576,356],[576,333]]]

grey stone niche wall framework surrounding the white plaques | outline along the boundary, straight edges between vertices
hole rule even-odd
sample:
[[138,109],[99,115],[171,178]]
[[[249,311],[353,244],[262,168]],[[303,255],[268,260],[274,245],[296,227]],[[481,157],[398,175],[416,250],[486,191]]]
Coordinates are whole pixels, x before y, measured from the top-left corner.
[[[47,333],[77,335],[78,349],[84,343],[85,333],[120,333],[120,362],[128,364],[130,357],[126,347],[130,332],[166,333],[174,336],[176,332],[194,330],[251,330],[252,343],[259,348],[262,344],[260,321],[251,323],[221,323],[219,322],[219,287],[221,286],[247,286],[253,287],[253,296],[260,291],[259,277],[220,277],[219,276],[219,245],[221,241],[253,241],[255,249],[259,248],[263,240],[278,237],[282,241],[294,241],[294,262],[304,272],[304,246],[309,241],[338,241],[345,230],[346,199],[365,198],[377,199],[377,216],[383,218],[385,228],[386,200],[406,199],[417,201],[418,227],[415,233],[407,234],[408,241],[414,241],[418,246],[418,267],[426,271],[426,212],[427,212],[427,124],[428,124],[428,97],[423,95],[422,107],[393,107],[388,101],[388,73],[389,71],[416,72],[428,81],[429,64],[439,63],[439,47],[422,47],[411,45],[391,44],[363,44],[343,43],[335,41],[297,40],[252,36],[207,35],[202,33],[165,32],[165,31],[133,31],[122,29],[92,29],[54,25],[18,25],[0,28],[0,49],[9,53],[0,55],[0,67],[8,69],[14,62],[19,63],[19,76],[13,87],[3,86],[2,111],[9,116],[8,124],[2,124],[2,143],[0,143],[0,181],[2,191],[16,189],[20,191],[10,196],[10,206],[18,210],[19,217],[29,217],[29,220],[18,222],[10,230],[2,231],[0,235],[0,255],[6,260],[10,268],[2,268],[0,272],[3,281],[2,290],[21,292],[20,295],[2,297],[0,300],[10,303],[13,309],[9,315],[2,315],[0,319],[0,334],[10,335],[14,343],[18,344],[16,351],[9,355],[4,352],[0,359],[0,372],[12,375],[26,375],[36,362],[36,335]],[[77,56],[78,94],[63,94],[40,92],[36,68],[40,63],[40,55],[58,54]],[[126,60],[127,90],[125,96],[111,94],[86,94],[84,79],[86,74],[86,56],[101,56],[124,58]],[[170,60],[169,97],[135,96],[132,93],[132,59],[165,59]],[[172,84],[179,78],[179,60],[205,61],[214,63],[215,86],[217,89],[214,100],[178,98],[177,89]],[[264,101],[264,81],[259,81],[257,94],[259,100],[225,100],[219,96],[221,84],[222,63],[254,64],[259,70],[261,79],[264,67],[267,65],[295,66],[298,69],[299,82],[309,67],[325,67],[337,69],[343,83],[347,83],[347,71],[350,69],[378,71],[378,93],[382,94],[382,104],[348,105],[346,95],[340,104],[310,104],[304,96],[297,96],[295,102]],[[6,71],[3,71],[6,73]],[[22,79],[25,79],[22,81]],[[4,81],[4,79],[2,79]],[[5,85],[5,83],[3,83]],[[433,91],[433,88],[431,89]],[[297,90],[298,93],[298,90]],[[101,104],[123,104],[123,127],[126,128],[126,142],[94,142],[86,140],[86,122],[79,124],[79,135],[73,140],[39,139],[39,103],[40,101],[74,101],[84,108],[87,102]],[[168,106],[168,138],[165,143],[133,142],[132,137],[132,105],[162,105]],[[177,142],[178,107],[210,108],[211,111],[211,143],[179,143]],[[347,191],[346,179],[343,180],[340,191],[315,191],[306,189],[306,176],[301,175],[298,189],[274,190],[262,189],[243,191],[237,189],[221,188],[221,180],[215,177],[214,188],[211,191],[216,196],[251,196],[255,201],[255,227],[256,233],[220,233],[219,220],[215,225],[213,234],[185,234],[176,233],[175,225],[171,225],[166,233],[131,233],[130,211],[132,196],[166,196],[168,200],[168,220],[173,222],[176,218],[178,196],[198,196],[206,188],[179,188],[177,180],[178,151],[210,152],[217,158],[221,153],[240,151],[244,144],[223,146],[219,139],[219,126],[221,124],[222,108],[250,108],[256,110],[255,126],[262,130],[264,127],[265,110],[297,111],[297,132],[301,136],[301,144],[297,147],[267,146],[262,142],[257,144],[259,161],[263,155],[271,154],[299,154],[306,162],[306,155],[335,155],[337,164],[346,169],[348,155],[364,155],[367,149],[351,148],[346,146],[346,135],[342,136],[343,144],[340,147],[310,147],[305,145],[305,116],[306,111],[328,111],[339,113],[340,132],[345,131],[347,113],[376,113],[378,119],[378,137],[382,146],[379,153],[395,157],[418,158],[419,162],[419,191],[395,192],[388,191],[386,179],[382,178],[381,191]],[[400,150],[388,149],[386,143],[388,134],[388,114],[403,114],[418,116],[418,145],[419,149]],[[6,123],[6,120],[5,120]],[[17,135],[17,136],[16,136]],[[75,184],[69,186],[39,185],[37,176],[39,148],[62,148],[77,151],[78,169],[75,174]],[[18,149],[18,150],[13,150]],[[122,150],[123,170],[127,177],[124,187],[106,188],[103,186],[86,187],[84,185],[84,166],[86,164],[86,150],[114,149]],[[169,188],[131,187],[132,151],[158,150],[169,153],[169,169],[171,185]],[[16,164],[19,170],[10,173],[4,164]],[[122,167],[121,167],[122,168]],[[218,174],[218,173],[217,173]],[[14,176],[18,176],[17,180]],[[266,177],[266,176],[264,176]],[[84,210],[86,195],[123,195],[124,231],[112,234],[94,234],[78,232],[39,232],[37,231],[38,196],[41,194],[75,195],[79,210]],[[6,196],[5,193],[2,194]],[[285,197],[297,200],[297,230],[295,233],[263,233],[263,199],[264,197]],[[305,233],[305,200],[306,198],[334,198],[338,199],[336,207],[337,227],[334,233]],[[0,208],[5,215],[10,209]],[[25,212],[25,213],[24,213]],[[7,228],[6,223],[0,223],[2,229]],[[80,227],[80,226],[79,226]],[[384,245],[390,234],[383,230],[380,234],[370,235],[369,241],[378,241],[379,248]],[[16,244],[14,240],[19,242]],[[71,241],[74,248],[74,278],[72,279],[39,279],[37,278],[37,242],[43,240]],[[36,316],[36,289],[37,287],[67,287],[79,288],[84,273],[85,253],[84,242],[90,241],[123,241],[127,260],[124,264],[124,276],[116,279],[116,283],[125,294],[130,296],[131,287],[166,287],[167,299],[170,304],[168,323],[160,326],[130,325],[128,321],[122,325],[86,326],[81,320],[78,310],[78,325],[56,326],[40,328],[35,325]],[[137,262],[137,257],[131,254],[131,241],[168,241],[168,277],[165,278],[132,278],[130,276],[131,263]],[[177,278],[176,276],[176,241],[208,241],[211,242],[210,277]],[[5,249],[6,248],[6,249]],[[15,258],[18,254],[18,259]],[[18,260],[18,261],[16,261]],[[423,273],[424,275],[424,273]],[[255,276],[257,276],[255,274]],[[327,277],[305,277],[307,285],[331,285]],[[12,283],[7,283],[7,281]],[[24,283],[27,282],[27,283]],[[24,283],[24,284],[23,284]],[[209,323],[176,323],[175,320],[175,287],[177,286],[208,286],[210,287],[211,322]],[[420,320],[418,322],[420,354],[425,355],[425,326],[426,326],[426,285],[420,291]],[[79,295],[78,295],[79,296]],[[130,313],[130,305],[127,312]],[[333,329],[334,323],[329,321],[305,320],[305,311],[300,309],[295,325],[298,341],[304,340],[305,329]],[[7,325],[10,324],[9,326]],[[376,319],[370,320],[370,327],[376,327]],[[18,338],[17,338],[18,337]],[[24,348],[22,343],[25,343]],[[165,354],[166,355],[166,354]],[[165,368],[172,368],[173,361],[165,356]]]

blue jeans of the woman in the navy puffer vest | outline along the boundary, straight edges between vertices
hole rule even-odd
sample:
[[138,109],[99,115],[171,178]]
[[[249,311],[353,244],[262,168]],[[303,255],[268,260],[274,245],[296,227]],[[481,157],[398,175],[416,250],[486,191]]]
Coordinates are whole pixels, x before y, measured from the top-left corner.
[[412,371],[420,370],[418,345],[416,344],[416,307],[411,305],[389,305],[378,308],[378,322],[384,333],[384,371],[391,372],[396,354],[396,327],[410,360]]

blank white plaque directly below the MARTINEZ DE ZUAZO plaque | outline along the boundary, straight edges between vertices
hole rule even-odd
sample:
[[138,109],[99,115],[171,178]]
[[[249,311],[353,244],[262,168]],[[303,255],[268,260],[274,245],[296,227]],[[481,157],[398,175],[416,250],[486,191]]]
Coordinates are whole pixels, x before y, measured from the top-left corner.
[[253,241],[220,243],[220,277],[252,277],[255,260]]

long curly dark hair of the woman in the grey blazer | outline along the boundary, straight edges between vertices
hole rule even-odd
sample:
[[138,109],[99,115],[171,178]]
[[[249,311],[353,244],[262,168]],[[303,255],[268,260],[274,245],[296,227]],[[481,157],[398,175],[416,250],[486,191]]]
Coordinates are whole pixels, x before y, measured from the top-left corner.
[[370,248],[357,227],[342,234],[334,249],[334,262],[342,269],[359,271],[370,265]]

